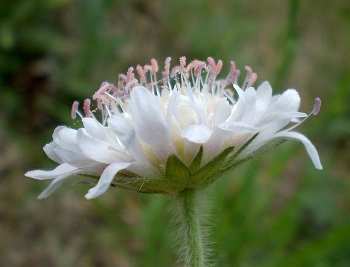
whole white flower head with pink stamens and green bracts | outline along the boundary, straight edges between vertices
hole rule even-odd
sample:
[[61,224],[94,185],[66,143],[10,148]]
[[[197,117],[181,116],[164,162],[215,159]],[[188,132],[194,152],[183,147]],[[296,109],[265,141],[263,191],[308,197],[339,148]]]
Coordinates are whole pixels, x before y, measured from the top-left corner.
[[[298,112],[300,97],[294,89],[272,95],[268,82],[251,87],[256,74],[246,67],[240,88],[235,63],[225,79],[217,79],[222,62],[193,61],[170,72],[170,58],[156,79],[158,65],[137,66],[120,75],[117,87],[107,82],[92,96],[102,113],[99,122],[85,100],[85,117],[78,130],[59,126],[44,151],[60,165],[52,171],[30,171],[26,176],[53,179],[39,198],[49,196],[66,178],[82,174],[100,177],[87,199],[104,193],[109,185],[147,193],[177,192],[204,186],[220,175],[262,153],[262,147],[279,138],[301,141],[317,169],[317,151],[301,133],[291,131],[308,115]],[[147,83],[146,73],[150,74]],[[232,88],[233,87],[233,88]],[[234,93],[235,92],[235,93]],[[236,96],[234,96],[236,95]],[[317,98],[313,113],[320,108]]]

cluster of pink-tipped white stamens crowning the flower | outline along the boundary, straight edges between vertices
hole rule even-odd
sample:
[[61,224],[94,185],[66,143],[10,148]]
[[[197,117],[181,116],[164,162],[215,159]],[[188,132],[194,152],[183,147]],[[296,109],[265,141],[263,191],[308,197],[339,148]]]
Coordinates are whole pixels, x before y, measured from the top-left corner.
[[[208,87],[208,90],[212,94],[220,94],[227,98],[232,104],[236,103],[234,99],[234,91],[229,86],[238,83],[238,76],[240,71],[236,69],[234,61],[230,62],[230,71],[226,78],[217,79],[217,76],[222,69],[222,61],[217,63],[211,57],[207,58],[207,63],[204,61],[194,60],[186,65],[186,58],[181,57],[179,59],[179,65],[170,70],[171,58],[168,57],[165,60],[164,71],[161,72],[162,79],[157,79],[157,72],[159,71],[158,63],[155,59],[151,60],[151,65],[137,65],[136,72],[138,79],[135,77],[134,68],[130,67],[126,74],[119,74],[118,85],[109,84],[103,82],[100,88],[92,95],[93,100],[97,100],[97,109],[90,110],[91,101],[85,99],[83,104],[83,111],[85,117],[94,116],[96,110],[102,111],[103,125],[106,122],[107,117],[115,113],[125,112],[124,106],[127,99],[130,98],[130,92],[135,86],[144,86],[150,92],[156,96],[161,95],[161,91],[167,89],[172,91],[175,87],[190,87],[192,90],[202,90],[204,87]],[[256,73],[252,71],[249,66],[245,67],[247,71],[246,78],[241,87],[244,90],[247,87],[251,87],[256,78]],[[147,75],[149,73],[149,75]],[[147,78],[148,76],[148,78]],[[75,101],[72,105],[72,118],[76,118],[78,114],[83,118],[82,114],[78,111],[79,102]],[[315,107],[313,114],[316,115],[319,111],[320,100],[315,100]]]

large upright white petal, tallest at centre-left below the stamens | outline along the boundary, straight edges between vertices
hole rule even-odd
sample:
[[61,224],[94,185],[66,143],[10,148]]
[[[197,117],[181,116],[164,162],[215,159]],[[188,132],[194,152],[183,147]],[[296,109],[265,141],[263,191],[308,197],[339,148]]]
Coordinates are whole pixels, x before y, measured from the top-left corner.
[[165,161],[171,153],[171,136],[158,99],[145,87],[134,87],[130,99],[130,110],[137,136],[149,144],[157,156]]

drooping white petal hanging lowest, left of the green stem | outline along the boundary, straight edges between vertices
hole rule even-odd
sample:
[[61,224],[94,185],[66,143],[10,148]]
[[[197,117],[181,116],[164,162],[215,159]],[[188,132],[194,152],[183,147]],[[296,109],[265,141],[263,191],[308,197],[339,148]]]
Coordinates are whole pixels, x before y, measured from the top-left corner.
[[105,193],[112,182],[114,176],[121,170],[128,168],[131,162],[116,162],[109,165],[102,173],[97,185],[91,188],[85,195],[86,199],[92,199]]

